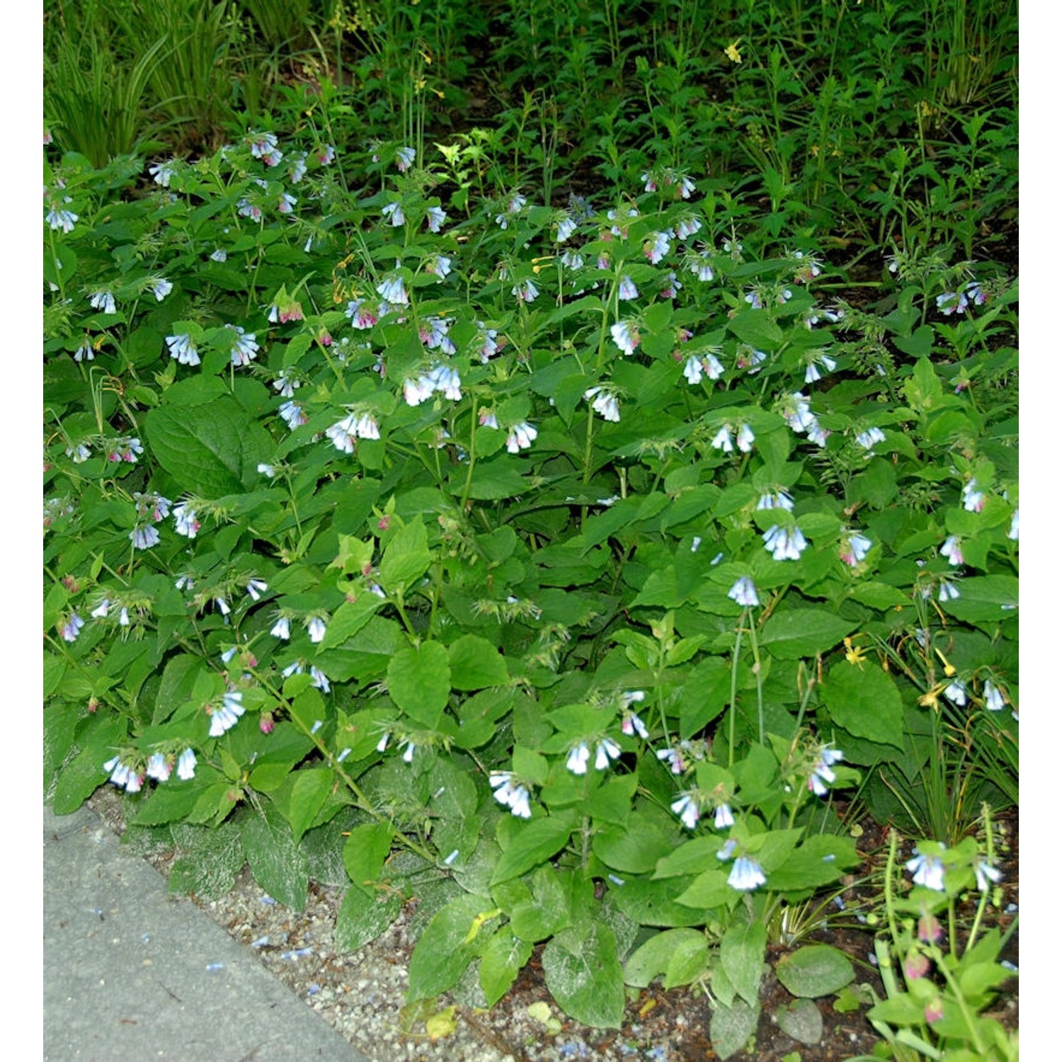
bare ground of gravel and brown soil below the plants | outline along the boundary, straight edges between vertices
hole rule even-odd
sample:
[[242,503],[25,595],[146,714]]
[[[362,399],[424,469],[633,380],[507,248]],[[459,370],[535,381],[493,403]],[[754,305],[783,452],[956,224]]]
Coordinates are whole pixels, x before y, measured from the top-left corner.
[[[93,809],[116,832],[124,829],[121,798],[110,787],[90,801]],[[1017,902],[1017,816],[1001,817],[1008,839],[1003,853],[1004,904]],[[868,853],[863,873],[880,862],[884,835],[868,825],[860,850]],[[175,853],[143,853],[164,874]],[[858,877],[856,879],[858,879]],[[538,962],[541,948],[521,971],[513,990],[492,1010],[458,1001],[449,995],[430,1005],[406,1006],[407,970],[416,936],[423,929],[415,904],[372,944],[350,954],[337,947],[332,935],[342,900],[339,886],[312,884],[306,909],[294,912],[263,894],[250,872],[237,878],[230,893],[219,900],[193,897],[232,937],[252,948],[260,961],[316,1010],[360,1051],[387,1060],[445,1062],[560,1062],[563,1059],[654,1060],[654,1062],[709,1062],[719,1056],[709,1035],[712,1011],[702,989],[664,992],[654,984],[632,991],[620,1030],[592,1029],[565,1017],[550,999]],[[849,890],[850,907],[859,890]],[[1013,914],[999,914],[1003,927]],[[858,926],[858,923],[853,923]],[[845,950],[856,963],[856,984],[869,984],[883,994],[876,971],[869,962],[873,935],[861,927],[830,926],[815,930],[805,942],[821,940]],[[782,953],[774,949],[769,959]],[[1005,956],[1016,964],[1016,933]],[[1017,1027],[1016,981],[1010,981],[993,1016],[1008,1028]],[[858,990],[857,990],[858,991]],[[465,997],[467,998],[467,997]],[[799,1051],[801,1062],[842,1062],[869,1054],[878,1037],[866,1020],[866,1006],[847,1013],[834,1009],[836,997],[817,1000],[822,1035],[813,1044],[787,1035],[774,1014],[792,1001],[773,971],[764,978],[761,1013],[755,1035],[755,1057],[772,1062]],[[429,1031],[430,1030],[430,1031]],[[434,1039],[433,1035],[434,1034]],[[795,1057],[795,1056],[793,1056]]]

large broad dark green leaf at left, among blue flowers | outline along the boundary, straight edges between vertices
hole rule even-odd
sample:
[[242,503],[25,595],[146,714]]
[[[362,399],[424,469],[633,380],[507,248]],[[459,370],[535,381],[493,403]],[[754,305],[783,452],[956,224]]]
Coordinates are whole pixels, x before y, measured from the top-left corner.
[[149,410],[143,426],[156,460],[179,487],[207,498],[250,487],[258,463],[274,449],[266,429],[227,396]]

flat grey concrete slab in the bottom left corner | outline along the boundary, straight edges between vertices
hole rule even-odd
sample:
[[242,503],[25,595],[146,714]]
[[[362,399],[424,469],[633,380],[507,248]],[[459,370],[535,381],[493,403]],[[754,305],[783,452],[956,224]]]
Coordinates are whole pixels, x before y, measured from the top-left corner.
[[367,1062],[89,808],[44,824],[46,1062]]

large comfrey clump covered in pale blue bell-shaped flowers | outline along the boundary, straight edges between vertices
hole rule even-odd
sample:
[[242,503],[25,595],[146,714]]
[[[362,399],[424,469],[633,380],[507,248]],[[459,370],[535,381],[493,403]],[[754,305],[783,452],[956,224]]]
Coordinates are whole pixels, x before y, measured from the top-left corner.
[[49,795],[121,786],[200,891],[239,852],[301,908],[341,850],[346,946],[418,898],[415,998],[543,944],[590,1025],[657,977],[753,1013],[858,861],[833,793],[948,696],[876,650],[946,636],[1016,735],[1009,414],[842,353],[828,263],[696,174],[562,224],[372,151],[47,174]]

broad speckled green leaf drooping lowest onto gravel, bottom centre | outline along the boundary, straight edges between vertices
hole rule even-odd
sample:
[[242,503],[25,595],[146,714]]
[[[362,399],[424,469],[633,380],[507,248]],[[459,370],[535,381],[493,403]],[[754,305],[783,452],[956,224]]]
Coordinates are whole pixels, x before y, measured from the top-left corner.
[[623,970],[616,937],[594,920],[559,932],[542,953],[546,987],[561,1009],[583,1025],[618,1029],[623,1023]]

